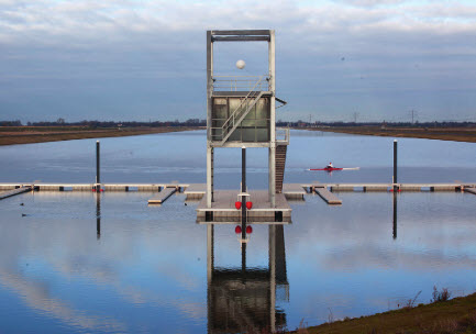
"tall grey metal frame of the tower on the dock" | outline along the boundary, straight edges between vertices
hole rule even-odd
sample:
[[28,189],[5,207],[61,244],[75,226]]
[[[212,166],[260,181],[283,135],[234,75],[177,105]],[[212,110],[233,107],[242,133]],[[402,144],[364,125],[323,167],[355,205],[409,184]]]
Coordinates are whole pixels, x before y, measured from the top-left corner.
[[[228,93],[237,97],[255,97],[253,103],[263,94],[269,97],[269,140],[266,142],[243,142],[228,141],[230,134],[222,132],[222,140],[215,141],[212,136],[212,113],[213,97],[223,96],[222,89],[214,90],[214,82],[221,77],[213,76],[213,43],[215,42],[268,42],[268,74],[266,91],[255,90],[253,87],[250,92],[236,91],[237,86],[230,86]],[[280,100],[278,100],[280,101]],[[251,105],[254,105],[251,103]],[[237,118],[236,123],[246,116],[250,109]],[[236,127],[233,115],[233,124]],[[234,131],[233,127],[231,131]],[[274,30],[233,30],[233,31],[207,31],[207,207],[212,208],[213,202],[213,156],[217,147],[268,147],[269,164],[269,202],[273,208],[276,207],[276,65],[275,65],[275,31]]]

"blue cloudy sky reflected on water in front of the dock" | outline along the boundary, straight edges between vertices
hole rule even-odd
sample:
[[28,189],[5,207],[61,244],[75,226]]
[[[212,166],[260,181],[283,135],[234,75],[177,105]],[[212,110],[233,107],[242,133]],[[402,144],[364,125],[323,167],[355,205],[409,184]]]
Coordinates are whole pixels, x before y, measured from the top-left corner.
[[[203,332],[206,229],[195,224],[195,205],[185,207],[182,196],[160,208],[146,207],[148,197],[104,193],[99,241],[93,194],[38,192],[3,201],[0,297],[16,310],[9,324],[33,318],[49,332],[60,332],[58,324],[69,332]],[[395,241],[391,194],[339,197],[342,207],[317,196],[292,205],[294,224],[285,226],[290,300],[277,305],[289,327],[302,318],[325,321],[328,308],[337,318],[385,311],[420,290],[418,302],[428,302],[433,285],[456,294],[476,289],[473,197],[399,194]],[[267,268],[267,229],[254,226],[250,267]],[[233,226],[215,226],[215,266],[240,265]]]

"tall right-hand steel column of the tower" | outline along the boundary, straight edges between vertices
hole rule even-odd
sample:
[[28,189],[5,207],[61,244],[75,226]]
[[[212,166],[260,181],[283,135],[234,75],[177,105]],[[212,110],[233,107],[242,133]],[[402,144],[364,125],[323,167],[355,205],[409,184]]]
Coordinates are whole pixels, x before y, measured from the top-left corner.
[[269,202],[276,207],[276,48],[275,31],[269,31],[268,63],[269,63],[269,91],[272,92],[270,124],[269,124]]

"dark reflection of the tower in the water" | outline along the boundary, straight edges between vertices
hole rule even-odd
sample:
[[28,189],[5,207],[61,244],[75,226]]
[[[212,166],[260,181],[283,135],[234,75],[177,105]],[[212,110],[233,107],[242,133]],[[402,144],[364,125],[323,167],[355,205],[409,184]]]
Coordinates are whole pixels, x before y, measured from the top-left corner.
[[[214,267],[214,224],[207,225],[208,332],[243,333],[286,327],[286,314],[276,309],[276,296],[289,300],[283,225],[268,225],[268,268],[246,267],[242,244],[240,267]],[[277,293],[279,292],[284,293]]]

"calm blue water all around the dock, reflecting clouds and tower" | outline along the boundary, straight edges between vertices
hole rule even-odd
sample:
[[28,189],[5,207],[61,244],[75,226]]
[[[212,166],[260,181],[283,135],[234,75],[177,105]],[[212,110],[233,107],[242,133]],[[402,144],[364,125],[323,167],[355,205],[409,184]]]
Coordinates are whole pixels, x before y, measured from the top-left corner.
[[[286,181],[390,181],[392,138],[294,132]],[[204,133],[102,138],[104,182],[204,182]],[[239,149],[217,155],[237,188]],[[266,152],[248,180],[266,188]],[[0,147],[0,181],[92,182],[95,141]],[[476,145],[399,140],[400,181],[475,182]],[[358,171],[305,171],[329,160]],[[291,225],[254,225],[246,259],[233,225],[214,225],[213,259],[196,203],[152,193],[36,192],[0,202],[0,332],[226,333],[296,329],[396,309],[433,286],[476,291],[476,197],[309,194]],[[23,205],[21,205],[23,203]],[[270,256],[275,245],[275,256]],[[208,268],[212,267],[211,277]],[[273,275],[276,270],[276,277]]]

